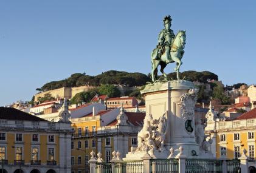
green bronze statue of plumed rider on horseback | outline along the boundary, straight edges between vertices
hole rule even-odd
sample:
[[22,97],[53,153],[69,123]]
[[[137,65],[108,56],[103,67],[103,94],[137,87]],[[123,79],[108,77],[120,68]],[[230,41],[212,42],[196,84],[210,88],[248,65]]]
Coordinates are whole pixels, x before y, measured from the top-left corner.
[[177,80],[179,80],[179,67],[182,64],[181,58],[184,55],[185,48],[185,31],[180,30],[177,35],[173,33],[171,27],[171,16],[165,16],[164,27],[159,33],[158,44],[156,48],[151,53],[151,79],[156,81],[157,77],[157,67],[160,65],[160,71],[167,80],[167,74],[164,72],[164,68],[169,63],[175,63],[175,72],[177,73]]

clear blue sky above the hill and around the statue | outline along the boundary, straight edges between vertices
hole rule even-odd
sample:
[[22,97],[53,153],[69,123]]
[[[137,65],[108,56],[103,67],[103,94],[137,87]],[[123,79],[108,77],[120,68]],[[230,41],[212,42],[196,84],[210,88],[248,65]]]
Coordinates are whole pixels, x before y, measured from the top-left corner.
[[[255,1],[0,1],[0,106],[72,73],[148,73],[165,15],[187,30],[184,70],[256,82]],[[173,72],[170,64],[165,72]]]

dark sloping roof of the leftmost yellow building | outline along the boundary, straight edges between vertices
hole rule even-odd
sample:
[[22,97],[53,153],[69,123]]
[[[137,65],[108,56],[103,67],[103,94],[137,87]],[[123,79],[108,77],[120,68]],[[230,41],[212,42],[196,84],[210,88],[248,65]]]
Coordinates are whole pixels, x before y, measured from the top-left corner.
[[47,121],[13,107],[0,107],[0,119],[22,121]]

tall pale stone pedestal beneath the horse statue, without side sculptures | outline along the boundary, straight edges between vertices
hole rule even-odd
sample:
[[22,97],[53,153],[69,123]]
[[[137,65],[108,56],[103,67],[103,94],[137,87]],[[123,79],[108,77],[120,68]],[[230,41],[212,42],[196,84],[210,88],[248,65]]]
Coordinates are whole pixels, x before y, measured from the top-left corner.
[[[167,118],[165,147],[184,148],[187,157],[199,155],[195,141],[195,104],[196,89],[192,82],[176,80],[148,84],[141,91],[145,96],[146,114],[159,119]],[[167,155],[168,157],[168,155]]]

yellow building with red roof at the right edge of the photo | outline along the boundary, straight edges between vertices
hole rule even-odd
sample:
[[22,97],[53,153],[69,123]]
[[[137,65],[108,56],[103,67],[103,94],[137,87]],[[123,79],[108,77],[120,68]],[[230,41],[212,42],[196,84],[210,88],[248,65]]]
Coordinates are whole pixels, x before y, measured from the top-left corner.
[[208,117],[206,134],[213,140],[211,150],[217,158],[238,158],[245,149],[249,169],[256,168],[256,109],[229,121]]

